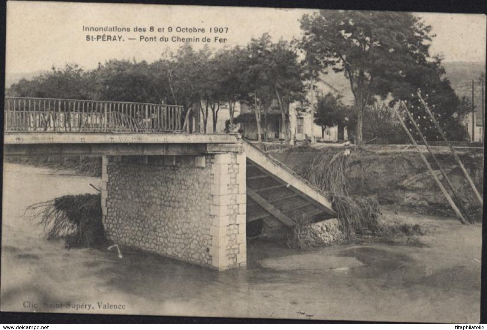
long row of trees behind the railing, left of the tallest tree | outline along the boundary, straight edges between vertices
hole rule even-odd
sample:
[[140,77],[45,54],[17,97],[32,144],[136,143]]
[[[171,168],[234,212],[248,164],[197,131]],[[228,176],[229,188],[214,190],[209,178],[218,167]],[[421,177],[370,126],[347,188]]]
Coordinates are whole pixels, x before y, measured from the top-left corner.
[[[21,80],[7,90],[11,96],[109,100],[183,105],[199,104],[203,129],[211,117],[216,130],[220,109],[229,111],[233,126],[235,104],[246,102],[259,123],[272,99],[279,100],[282,118],[289,104],[304,99],[304,79],[298,53],[284,40],[268,34],[246,47],[212,52],[185,44],[165,52],[153,63],[109,60],[85,71],[77,64],[53,67],[33,80]],[[288,121],[287,121],[288,122]],[[289,140],[289,137],[287,137]]]

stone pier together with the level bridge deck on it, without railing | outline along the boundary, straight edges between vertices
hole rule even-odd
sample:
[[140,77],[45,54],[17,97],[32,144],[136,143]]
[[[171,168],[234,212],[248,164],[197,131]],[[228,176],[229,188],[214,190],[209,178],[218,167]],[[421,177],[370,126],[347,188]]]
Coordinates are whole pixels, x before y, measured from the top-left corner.
[[102,156],[108,239],[217,270],[246,265],[246,156],[236,135],[9,132],[4,153]]

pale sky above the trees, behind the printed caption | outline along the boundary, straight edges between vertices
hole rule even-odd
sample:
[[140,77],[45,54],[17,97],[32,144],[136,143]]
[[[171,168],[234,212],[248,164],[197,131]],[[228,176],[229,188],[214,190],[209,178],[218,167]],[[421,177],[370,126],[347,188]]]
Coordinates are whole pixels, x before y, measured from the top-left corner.
[[[299,19],[308,9],[273,9],[249,7],[205,7],[182,5],[108,4],[74,2],[7,3],[7,73],[47,70],[67,62],[93,69],[108,59],[135,59],[152,62],[166,49],[175,51],[183,42],[172,37],[209,37],[210,42],[194,42],[195,48],[245,45],[252,37],[268,32],[274,40],[300,36]],[[432,26],[437,36],[432,53],[443,55],[444,61],[485,61],[486,16],[479,14],[417,13]],[[83,26],[118,26],[131,32],[86,32]],[[133,32],[135,27],[156,31]],[[173,29],[168,32],[168,28]],[[180,28],[204,28],[202,32],[176,32]],[[224,28],[212,33],[210,28]],[[164,28],[164,32],[157,32]],[[228,29],[226,29],[228,28]],[[87,41],[103,34],[123,41]],[[156,41],[139,41],[141,35],[154,36]],[[215,36],[218,40],[215,42]],[[169,41],[160,41],[168,37]],[[135,38],[135,40],[129,40]],[[226,39],[224,42],[223,39]]]

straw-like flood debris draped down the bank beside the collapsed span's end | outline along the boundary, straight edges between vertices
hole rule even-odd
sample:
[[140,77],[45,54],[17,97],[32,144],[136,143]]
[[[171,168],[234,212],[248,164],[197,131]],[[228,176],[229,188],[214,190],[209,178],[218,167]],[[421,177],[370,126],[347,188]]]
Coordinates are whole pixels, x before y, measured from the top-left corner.
[[[307,180],[326,191],[332,201],[332,207],[337,212],[338,227],[341,239],[348,242],[388,242],[405,243],[408,245],[423,245],[418,236],[424,235],[425,230],[419,225],[391,223],[381,212],[379,202],[375,196],[353,195],[346,176],[349,150],[334,151],[335,154],[316,153],[311,165],[302,172]],[[305,220],[294,217],[297,226],[288,236],[288,246],[308,249],[320,245],[328,245],[330,241],[323,239],[318,231]],[[326,222],[325,222],[326,223]],[[334,238],[337,234],[332,227],[327,230]]]

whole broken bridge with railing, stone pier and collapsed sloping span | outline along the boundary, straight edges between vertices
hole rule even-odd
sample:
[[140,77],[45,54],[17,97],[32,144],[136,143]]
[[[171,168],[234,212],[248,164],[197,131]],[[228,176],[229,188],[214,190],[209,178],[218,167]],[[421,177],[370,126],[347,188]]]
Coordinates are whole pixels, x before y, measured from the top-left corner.
[[[5,97],[4,155],[102,157],[108,239],[218,270],[246,265],[246,226],[336,217],[327,195],[199,109]],[[250,197],[250,198],[247,198]]]

